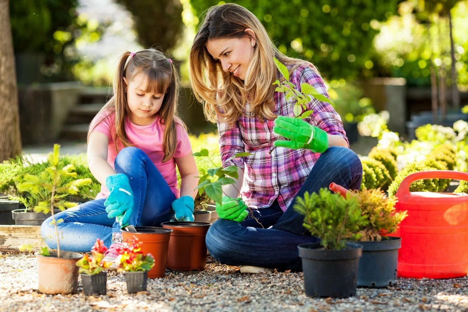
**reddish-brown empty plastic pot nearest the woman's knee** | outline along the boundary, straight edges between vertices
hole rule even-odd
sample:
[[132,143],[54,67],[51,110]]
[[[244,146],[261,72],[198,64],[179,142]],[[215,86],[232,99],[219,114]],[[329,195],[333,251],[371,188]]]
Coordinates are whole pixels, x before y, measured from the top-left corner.
[[168,268],[179,271],[203,270],[206,266],[208,222],[163,222],[172,230],[168,248]]

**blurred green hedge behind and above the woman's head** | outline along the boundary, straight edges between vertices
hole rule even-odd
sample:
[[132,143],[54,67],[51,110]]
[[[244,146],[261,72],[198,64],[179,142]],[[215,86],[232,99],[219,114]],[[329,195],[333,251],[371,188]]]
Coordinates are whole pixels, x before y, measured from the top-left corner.
[[[226,1],[234,2],[234,1]],[[238,0],[263,23],[280,51],[314,63],[327,78],[372,76],[376,25],[399,0]],[[218,0],[191,0],[197,15]],[[200,22],[203,18],[199,19]]]

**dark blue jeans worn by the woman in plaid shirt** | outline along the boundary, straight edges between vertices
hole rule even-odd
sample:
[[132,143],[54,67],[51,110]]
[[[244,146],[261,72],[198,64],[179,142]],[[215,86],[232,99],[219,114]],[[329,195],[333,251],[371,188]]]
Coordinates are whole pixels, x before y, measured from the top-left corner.
[[304,216],[292,208],[295,198],[328,188],[331,182],[359,189],[361,180],[362,164],[356,153],[341,146],[329,147],[284,213],[275,200],[269,208],[254,210],[264,228],[250,217],[241,223],[219,219],[206,234],[206,246],[216,260],[227,265],[301,269],[297,246],[320,240],[302,225]]

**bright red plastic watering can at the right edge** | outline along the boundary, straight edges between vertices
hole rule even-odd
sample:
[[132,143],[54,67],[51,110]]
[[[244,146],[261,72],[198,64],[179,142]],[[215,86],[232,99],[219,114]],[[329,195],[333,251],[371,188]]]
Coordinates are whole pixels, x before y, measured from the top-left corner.
[[409,192],[414,181],[433,178],[468,181],[468,173],[423,171],[410,174],[400,184],[395,208],[408,210],[408,217],[391,234],[402,238],[400,277],[453,278],[468,273],[468,195]]

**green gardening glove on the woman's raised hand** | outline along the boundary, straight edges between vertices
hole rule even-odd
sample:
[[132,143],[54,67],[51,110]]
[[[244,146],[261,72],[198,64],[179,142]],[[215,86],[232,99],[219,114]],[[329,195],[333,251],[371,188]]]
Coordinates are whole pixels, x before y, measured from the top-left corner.
[[328,134],[320,128],[300,119],[287,116],[278,116],[275,119],[273,132],[290,139],[277,140],[275,146],[286,147],[293,150],[306,148],[315,153],[325,152],[328,148]]

